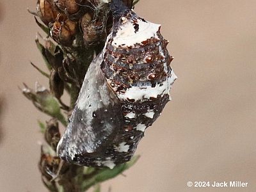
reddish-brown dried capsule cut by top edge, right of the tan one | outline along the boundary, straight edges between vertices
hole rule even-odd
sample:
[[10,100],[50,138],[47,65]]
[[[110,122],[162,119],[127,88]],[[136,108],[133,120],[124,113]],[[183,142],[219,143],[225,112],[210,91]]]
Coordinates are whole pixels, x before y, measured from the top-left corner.
[[79,10],[79,5],[76,3],[76,0],[54,0],[54,3],[60,10],[68,14],[76,13]]

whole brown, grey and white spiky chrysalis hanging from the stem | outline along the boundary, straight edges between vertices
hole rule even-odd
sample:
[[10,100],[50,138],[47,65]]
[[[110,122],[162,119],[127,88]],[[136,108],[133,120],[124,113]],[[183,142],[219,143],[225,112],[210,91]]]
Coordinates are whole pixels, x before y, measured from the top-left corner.
[[113,168],[129,161],[145,129],[170,100],[177,78],[160,25],[121,1],[110,6],[113,28],[84,77],[57,149],[62,159],[84,166]]

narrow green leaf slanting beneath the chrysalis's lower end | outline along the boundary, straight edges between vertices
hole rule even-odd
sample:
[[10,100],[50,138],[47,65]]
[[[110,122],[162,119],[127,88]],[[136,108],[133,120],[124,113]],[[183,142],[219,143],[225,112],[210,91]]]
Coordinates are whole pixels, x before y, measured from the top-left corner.
[[95,184],[104,182],[105,180],[112,179],[120,175],[125,170],[131,168],[131,166],[134,165],[139,158],[140,156],[132,157],[131,161],[123,164],[118,164],[112,170],[109,168],[103,168],[101,170],[98,170],[98,172],[95,175],[93,175],[89,179],[84,180],[81,187],[82,191],[86,191],[87,189],[94,186]]

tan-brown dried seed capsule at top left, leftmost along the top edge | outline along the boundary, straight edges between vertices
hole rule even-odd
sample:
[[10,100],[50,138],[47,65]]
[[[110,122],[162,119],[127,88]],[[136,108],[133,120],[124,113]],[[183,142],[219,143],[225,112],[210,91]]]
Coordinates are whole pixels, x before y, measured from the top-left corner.
[[60,13],[51,0],[38,0],[36,10],[40,19],[42,19],[47,26],[50,22],[54,22]]

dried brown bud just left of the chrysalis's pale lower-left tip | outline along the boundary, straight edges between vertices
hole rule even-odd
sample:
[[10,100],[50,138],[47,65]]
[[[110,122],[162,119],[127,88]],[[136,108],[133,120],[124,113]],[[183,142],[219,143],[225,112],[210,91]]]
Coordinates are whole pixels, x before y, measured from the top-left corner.
[[54,151],[56,151],[56,147],[60,141],[60,130],[58,121],[55,118],[52,118],[47,122],[47,127],[45,129],[45,141]]

